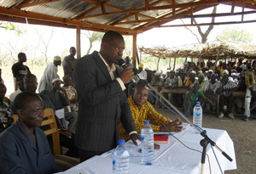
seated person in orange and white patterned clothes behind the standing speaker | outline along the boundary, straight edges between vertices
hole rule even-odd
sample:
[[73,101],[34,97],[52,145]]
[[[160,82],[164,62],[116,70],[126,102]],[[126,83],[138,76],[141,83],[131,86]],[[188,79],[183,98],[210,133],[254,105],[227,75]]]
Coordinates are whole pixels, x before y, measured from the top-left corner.
[[[63,89],[66,90],[67,96],[70,101],[70,107],[73,112],[79,111],[78,104],[78,93],[75,87],[72,86],[72,79],[70,76],[63,76],[62,80],[64,81]],[[64,93],[63,93],[64,94]]]

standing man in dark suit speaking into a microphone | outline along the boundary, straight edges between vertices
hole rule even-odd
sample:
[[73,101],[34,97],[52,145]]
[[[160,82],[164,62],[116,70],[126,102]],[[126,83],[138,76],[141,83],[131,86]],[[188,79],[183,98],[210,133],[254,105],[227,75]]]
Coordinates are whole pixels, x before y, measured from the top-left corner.
[[125,41],[116,31],[102,37],[100,52],[78,60],[74,75],[79,94],[79,116],[75,143],[80,160],[103,154],[117,145],[119,121],[133,143],[140,139],[125,97],[125,83],[134,72],[128,66],[121,73],[114,64],[122,59]]

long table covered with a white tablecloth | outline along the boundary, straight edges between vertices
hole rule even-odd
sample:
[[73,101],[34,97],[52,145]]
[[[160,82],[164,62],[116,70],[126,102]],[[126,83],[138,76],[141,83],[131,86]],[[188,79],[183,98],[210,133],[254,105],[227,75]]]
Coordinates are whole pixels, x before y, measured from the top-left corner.
[[[236,155],[234,150],[234,144],[230,139],[229,134],[224,130],[218,129],[205,129],[209,138],[212,138],[212,141],[217,143],[218,147],[226,154],[229,154],[233,159],[232,162],[227,160],[220,152],[213,148],[215,154],[218,157],[218,161],[223,171],[235,170],[236,169]],[[200,141],[202,139],[200,134],[195,134],[192,131],[192,127],[185,132],[180,132],[174,134],[179,138],[183,143],[185,143],[189,148],[197,149],[202,151]],[[201,167],[201,153],[192,151],[185,148],[181,143],[179,143],[171,135],[169,136],[169,142],[167,144],[160,144],[160,149],[155,150],[155,161],[153,166],[143,166],[141,165],[141,158],[137,155],[137,147],[131,142],[125,143],[126,148],[129,150],[130,157],[130,173],[173,173],[173,174],[198,174]],[[88,173],[112,173],[112,154],[113,150],[102,154],[100,156],[94,156],[90,160],[86,160],[78,166],[74,166],[68,171],[62,173],[78,173],[73,171],[78,170],[87,170]],[[211,146],[207,146],[207,154],[210,158],[212,174],[221,173],[218,169],[217,161],[214,158],[212,153]],[[86,173],[85,171],[79,171],[79,173]],[[208,174],[209,164],[206,159],[205,171],[204,173]]]

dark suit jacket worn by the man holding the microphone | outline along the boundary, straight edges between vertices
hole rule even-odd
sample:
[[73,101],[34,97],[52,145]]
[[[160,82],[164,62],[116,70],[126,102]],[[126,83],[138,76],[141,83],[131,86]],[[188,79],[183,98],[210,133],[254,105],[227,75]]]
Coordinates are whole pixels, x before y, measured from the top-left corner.
[[90,151],[113,149],[119,138],[119,121],[128,133],[136,131],[125,92],[118,81],[112,81],[96,51],[78,60],[74,75],[79,95],[76,145]]

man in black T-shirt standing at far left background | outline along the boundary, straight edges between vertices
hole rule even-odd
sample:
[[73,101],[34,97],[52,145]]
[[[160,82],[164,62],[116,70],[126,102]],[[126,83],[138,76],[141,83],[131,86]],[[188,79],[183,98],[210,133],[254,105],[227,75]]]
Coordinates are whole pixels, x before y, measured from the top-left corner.
[[27,74],[31,74],[29,68],[26,65],[23,65],[24,62],[26,62],[26,54],[19,53],[18,62],[12,66],[13,75],[15,77],[15,91],[18,89],[16,85],[17,81],[20,81],[20,79],[22,80]]

